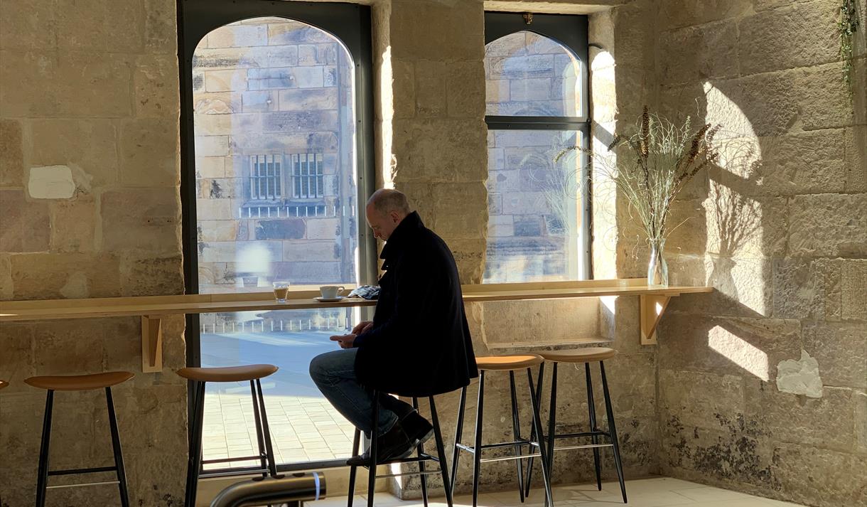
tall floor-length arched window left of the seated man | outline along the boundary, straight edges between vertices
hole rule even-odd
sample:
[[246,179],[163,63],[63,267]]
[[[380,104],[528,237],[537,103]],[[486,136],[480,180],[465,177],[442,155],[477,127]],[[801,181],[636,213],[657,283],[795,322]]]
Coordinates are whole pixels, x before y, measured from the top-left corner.
[[[271,293],[274,281],[375,283],[375,240],[363,218],[374,190],[369,8],[179,5],[187,292]],[[358,317],[339,308],[190,315],[187,362],[282,358],[264,383],[280,470],[304,468],[310,459],[344,463],[352,426],[318,392],[308,367],[333,349],[328,336],[347,333]],[[229,465],[227,458],[256,456],[251,412],[239,410],[249,392],[214,384],[205,398],[218,407],[205,415],[205,439],[218,443],[205,445],[205,459],[223,460],[205,470],[218,473],[213,469]],[[284,414],[271,413],[272,404],[302,402],[306,410],[293,409],[291,426]],[[320,417],[329,418],[329,431],[314,424]],[[294,437],[306,429],[310,442]],[[331,441],[336,451],[313,439]]]

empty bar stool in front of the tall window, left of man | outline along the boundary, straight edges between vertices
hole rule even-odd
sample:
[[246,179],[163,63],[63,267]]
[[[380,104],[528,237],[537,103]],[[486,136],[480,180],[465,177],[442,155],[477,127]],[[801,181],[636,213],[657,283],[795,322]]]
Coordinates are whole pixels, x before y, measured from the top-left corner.
[[[274,460],[274,449],[271,446],[271,431],[268,430],[268,417],[265,415],[265,399],[262,395],[260,379],[277,372],[275,365],[243,365],[219,368],[181,368],[178,375],[192,380],[192,432],[190,435],[189,458],[186,468],[186,494],[184,505],[195,507],[196,491],[199,478],[231,477],[251,473],[261,473],[262,477],[277,476],[277,463]],[[202,424],[205,418],[205,384],[207,382],[250,382],[250,392],[253,397],[253,418],[256,420],[256,437],[259,453],[257,456],[240,458],[202,459]],[[258,459],[259,468],[223,468],[214,471],[204,471],[205,464],[228,463],[230,461],[247,461]]]

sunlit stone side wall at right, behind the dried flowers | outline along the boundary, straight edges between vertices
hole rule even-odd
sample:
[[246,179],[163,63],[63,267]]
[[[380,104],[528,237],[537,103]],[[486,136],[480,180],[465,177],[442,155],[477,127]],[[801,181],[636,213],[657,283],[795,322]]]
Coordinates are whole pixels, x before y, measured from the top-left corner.
[[[678,203],[689,220],[668,242],[674,281],[716,292],[675,299],[662,320],[661,471],[829,506],[867,497],[865,44],[862,28],[850,102],[839,4],[655,12],[660,109],[736,138]],[[818,361],[818,398],[786,377],[811,371],[802,354]]]

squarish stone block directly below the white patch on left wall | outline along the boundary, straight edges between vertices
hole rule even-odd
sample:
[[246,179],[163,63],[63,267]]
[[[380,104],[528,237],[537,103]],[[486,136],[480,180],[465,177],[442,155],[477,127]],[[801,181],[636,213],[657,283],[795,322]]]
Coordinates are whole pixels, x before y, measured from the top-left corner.
[[93,252],[96,248],[97,214],[92,195],[73,201],[56,201],[51,207],[51,251]]

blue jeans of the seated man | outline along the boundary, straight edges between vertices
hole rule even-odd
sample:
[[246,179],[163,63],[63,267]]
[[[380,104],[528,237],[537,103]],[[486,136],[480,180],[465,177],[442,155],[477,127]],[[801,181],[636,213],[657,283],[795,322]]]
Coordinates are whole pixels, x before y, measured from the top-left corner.
[[[310,361],[310,378],[331,405],[356,428],[370,436],[373,426],[373,391],[355,376],[355,353],[358,349],[341,349],[319,354]],[[380,395],[379,432],[382,435],[414,408],[397,398]]]

